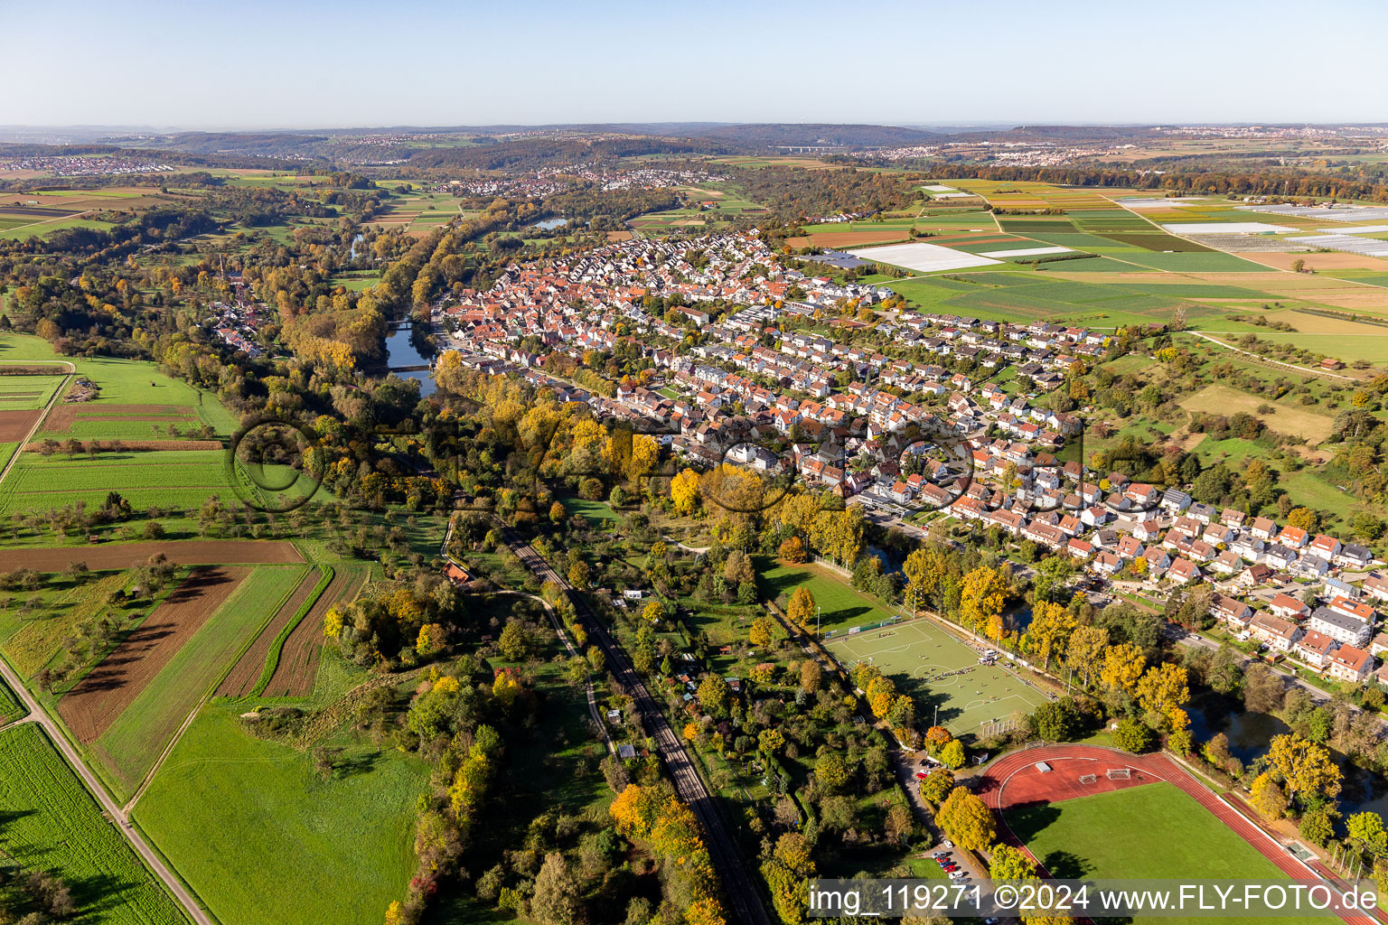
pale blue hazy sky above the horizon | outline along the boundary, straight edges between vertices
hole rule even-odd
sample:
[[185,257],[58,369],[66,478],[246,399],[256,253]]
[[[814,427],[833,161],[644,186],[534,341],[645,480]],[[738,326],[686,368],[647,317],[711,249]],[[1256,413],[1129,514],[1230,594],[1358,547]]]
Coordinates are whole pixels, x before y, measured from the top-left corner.
[[0,125],[1388,122],[1385,0],[0,0]]

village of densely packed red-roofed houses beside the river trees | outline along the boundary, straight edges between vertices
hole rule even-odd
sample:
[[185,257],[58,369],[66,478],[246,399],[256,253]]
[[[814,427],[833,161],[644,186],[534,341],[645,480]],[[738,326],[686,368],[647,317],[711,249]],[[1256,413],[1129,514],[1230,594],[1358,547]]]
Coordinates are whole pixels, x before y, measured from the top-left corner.
[[[464,365],[655,433],[679,465],[794,474],[916,535],[930,521],[998,530],[1069,556],[1099,594],[1206,589],[1210,616],[1273,657],[1331,680],[1374,674],[1388,635],[1376,635],[1373,602],[1388,602],[1388,576],[1370,571],[1382,563],[1367,548],[1059,460],[1083,417],[1038,399],[1101,358],[1109,334],[912,312],[892,295],[806,276],[752,232],[514,265],[493,288],[440,302],[434,323]],[[880,347],[797,329],[845,300],[881,309]],[[547,372],[525,338],[576,361],[633,340],[650,369],[601,395]],[[905,348],[990,374],[1015,368],[1030,391],[892,355]],[[1388,684],[1388,667],[1378,677]]]

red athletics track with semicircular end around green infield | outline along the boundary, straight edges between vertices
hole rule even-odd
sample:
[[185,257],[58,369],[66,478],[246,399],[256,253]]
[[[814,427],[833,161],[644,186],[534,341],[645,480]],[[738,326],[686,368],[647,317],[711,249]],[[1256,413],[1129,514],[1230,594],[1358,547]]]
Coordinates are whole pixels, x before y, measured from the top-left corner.
[[[1053,770],[1041,772],[1035,770],[1037,761],[1048,763]],[[1109,781],[1109,768],[1131,768],[1133,777],[1127,781]],[[1097,777],[1094,784],[1080,784],[1084,774]],[[1029,803],[1059,803],[1077,796],[1106,793],[1124,786],[1138,786],[1152,781],[1166,781],[1178,786],[1191,797],[1209,810],[1214,817],[1231,828],[1239,838],[1252,845],[1258,851],[1277,865],[1292,879],[1307,879],[1306,868],[1285,850],[1280,849],[1270,836],[1242,814],[1235,813],[1221,803],[1203,784],[1195,779],[1185,768],[1165,754],[1128,754],[1116,749],[1103,749],[1094,745],[1048,745],[1022,752],[1010,752],[988,766],[980,778],[977,793],[984,803],[998,814],[1002,822],[1004,836],[1009,845],[1020,847],[1037,861],[1030,849],[1023,845],[1002,814],[1013,806]],[[1312,861],[1310,867],[1326,879],[1334,875],[1321,864]],[[1041,868],[1042,872],[1045,868]],[[1341,914],[1341,918],[1355,925],[1381,925],[1380,919],[1369,915]]]

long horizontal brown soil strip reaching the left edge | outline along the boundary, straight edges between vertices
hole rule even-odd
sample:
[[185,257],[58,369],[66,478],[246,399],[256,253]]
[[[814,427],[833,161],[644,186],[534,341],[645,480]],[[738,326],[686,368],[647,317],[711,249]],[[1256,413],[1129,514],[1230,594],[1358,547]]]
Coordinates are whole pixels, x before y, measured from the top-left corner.
[[112,542],[89,546],[39,546],[6,549],[0,570],[37,569],[62,571],[74,562],[87,569],[130,569],[162,552],[180,566],[243,564],[251,562],[303,562],[294,544],[283,539],[186,539],[182,542]]

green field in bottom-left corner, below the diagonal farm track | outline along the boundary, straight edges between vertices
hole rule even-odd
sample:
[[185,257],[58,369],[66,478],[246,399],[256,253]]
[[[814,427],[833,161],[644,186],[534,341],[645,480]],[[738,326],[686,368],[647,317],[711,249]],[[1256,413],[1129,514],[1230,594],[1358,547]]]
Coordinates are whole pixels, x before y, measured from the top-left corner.
[[92,925],[185,925],[183,913],[115,831],[37,725],[0,732],[0,846],[51,870]]

